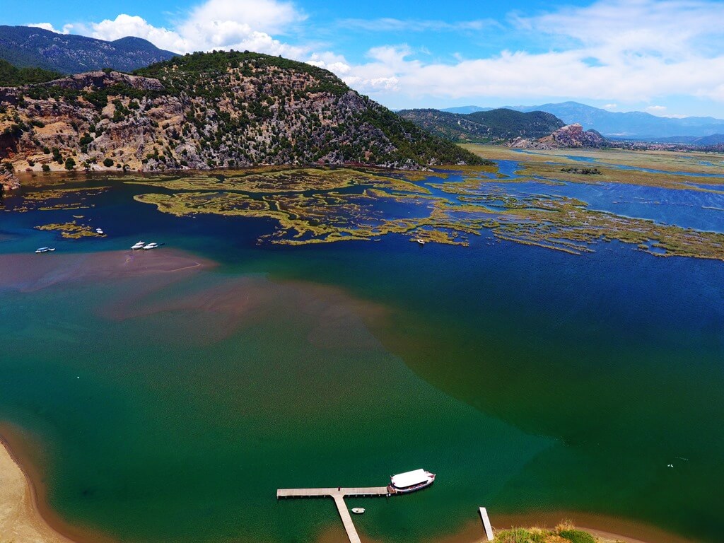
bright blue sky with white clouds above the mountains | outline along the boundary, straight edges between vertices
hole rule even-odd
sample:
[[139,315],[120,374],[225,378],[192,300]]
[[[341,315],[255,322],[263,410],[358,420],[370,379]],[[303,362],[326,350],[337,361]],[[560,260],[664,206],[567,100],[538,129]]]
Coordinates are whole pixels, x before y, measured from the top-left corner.
[[280,54],[392,109],[573,100],[724,118],[724,0],[33,0],[0,24]]

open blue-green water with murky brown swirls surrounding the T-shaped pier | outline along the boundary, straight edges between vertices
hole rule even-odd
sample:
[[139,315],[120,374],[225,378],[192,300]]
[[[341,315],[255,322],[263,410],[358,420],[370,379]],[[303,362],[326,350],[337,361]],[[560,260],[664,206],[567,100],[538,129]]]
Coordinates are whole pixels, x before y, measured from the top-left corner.
[[[600,190],[579,186],[552,190]],[[484,239],[257,245],[266,219],[177,218],[131,195],[82,211],[104,240],[33,230],[67,211],[0,215],[0,263],[41,245],[62,269],[88,259],[83,281],[0,283],[0,418],[42,444],[70,523],[128,542],[310,541],[338,523],[331,500],[277,502],[277,487],[424,467],[424,492],[350,502],[366,534],[429,539],[485,505],[720,540],[720,262]],[[138,239],[220,266],[92,273]]]

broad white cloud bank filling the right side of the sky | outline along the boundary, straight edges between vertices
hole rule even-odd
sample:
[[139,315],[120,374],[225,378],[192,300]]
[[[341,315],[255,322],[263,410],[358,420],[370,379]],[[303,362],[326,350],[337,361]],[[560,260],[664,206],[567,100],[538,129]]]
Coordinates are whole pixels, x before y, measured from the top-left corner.
[[[602,0],[510,20],[518,32],[547,39],[550,49],[422,62],[406,46],[378,46],[369,50],[369,62],[353,64],[344,78],[397,101],[388,89],[407,98],[651,101],[683,94],[724,101],[724,48],[701,46],[724,43],[724,3]],[[372,86],[381,79],[395,85]]]

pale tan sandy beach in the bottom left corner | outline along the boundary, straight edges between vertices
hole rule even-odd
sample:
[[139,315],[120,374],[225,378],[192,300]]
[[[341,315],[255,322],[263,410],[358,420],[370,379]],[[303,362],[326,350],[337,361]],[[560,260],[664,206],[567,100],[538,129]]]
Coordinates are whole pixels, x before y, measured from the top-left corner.
[[3,542],[71,543],[49,526],[36,505],[28,476],[0,439],[0,535]]

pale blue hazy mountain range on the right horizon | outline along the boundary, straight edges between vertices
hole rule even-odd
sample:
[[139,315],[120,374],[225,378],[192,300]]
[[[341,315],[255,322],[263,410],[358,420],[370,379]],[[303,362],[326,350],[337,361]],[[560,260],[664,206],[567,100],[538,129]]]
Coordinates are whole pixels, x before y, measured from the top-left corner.
[[[666,140],[691,143],[690,138],[702,138],[724,134],[724,119],[714,117],[657,117],[643,111],[620,113],[607,111],[578,102],[542,104],[540,106],[506,106],[515,111],[546,111],[563,120],[565,124],[580,123],[585,129],[594,129],[608,138],[631,138],[641,140]],[[455,114],[471,114],[476,111],[491,111],[480,106],[461,106],[442,109]]]

